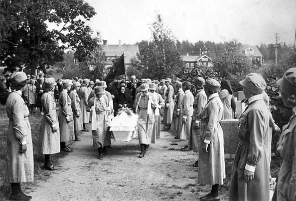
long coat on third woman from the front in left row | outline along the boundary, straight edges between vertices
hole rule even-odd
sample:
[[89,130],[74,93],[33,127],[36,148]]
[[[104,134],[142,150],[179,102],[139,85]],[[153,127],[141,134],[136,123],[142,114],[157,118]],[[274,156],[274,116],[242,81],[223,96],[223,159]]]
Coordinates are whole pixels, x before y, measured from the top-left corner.
[[[61,110],[59,112],[59,125],[60,125],[60,140],[71,141],[74,139],[74,123],[73,112],[71,108],[71,98],[68,93],[63,89],[59,95],[59,103]],[[70,122],[67,121],[68,118]]]

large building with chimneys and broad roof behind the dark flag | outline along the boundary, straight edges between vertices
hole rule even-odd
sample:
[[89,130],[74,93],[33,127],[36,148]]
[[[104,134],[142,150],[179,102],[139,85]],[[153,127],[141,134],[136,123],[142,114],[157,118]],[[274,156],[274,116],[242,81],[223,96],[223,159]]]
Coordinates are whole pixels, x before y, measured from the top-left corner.
[[118,44],[108,44],[107,40],[103,40],[102,45],[103,51],[106,56],[106,67],[111,67],[114,64],[114,60],[119,58],[122,53],[124,53],[124,64],[127,68],[131,62],[132,57],[136,57],[136,54],[139,52],[139,47],[137,44],[121,44],[121,41],[118,41]]

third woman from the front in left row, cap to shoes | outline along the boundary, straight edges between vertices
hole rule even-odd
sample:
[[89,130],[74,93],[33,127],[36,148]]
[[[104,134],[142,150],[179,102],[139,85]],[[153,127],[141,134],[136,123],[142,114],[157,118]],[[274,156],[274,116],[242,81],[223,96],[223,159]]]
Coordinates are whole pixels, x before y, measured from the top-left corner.
[[71,148],[66,146],[66,142],[74,139],[74,123],[72,112],[72,100],[68,95],[68,91],[71,89],[72,81],[70,79],[63,80],[62,91],[59,95],[59,103],[61,109],[58,115],[60,125],[60,141],[61,150],[71,152]]

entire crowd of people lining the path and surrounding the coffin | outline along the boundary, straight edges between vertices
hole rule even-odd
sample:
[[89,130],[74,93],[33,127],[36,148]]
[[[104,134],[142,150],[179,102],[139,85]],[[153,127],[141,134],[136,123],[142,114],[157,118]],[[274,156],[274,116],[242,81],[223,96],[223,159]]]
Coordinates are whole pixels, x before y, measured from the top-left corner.
[[[27,76],[14,72],[9,85],[1,79],[0,95],[6,100],[8,125],[8,175],[11,198],[30,200],[20,183],[33,181],[33,145],[28,116],[39,107],[42,113],[39,147],[45,156],[44,169],[55,170],[51,155],[71,152],[72,140],[79,141],[79,132],[91,126],[93,145],[98,159],[103,159],[111,145],[109,125],[118,110],[131,108],[137,115],[137,132],[144,157],[150,143],[160,138],[161,115],[165,130],[175,138],[188,140],[181,150],[198,152],[198,182],[210,184],[210,193],[200,200],[220,200],[219,185],[226,177],[224,134],[220,120],[234,118],[235,101],[228,80],[196,77],[193,84],[177,79],[105,81],[87,78],[56,81],[53,77]],[[238,137],[233,162],[229,200],[268,200],[272,129],[279,130],[269,111],[266,82],[262,75],[250,73],[239,82],[245,95],[246,108],[239,117]],[[296,200],[296,69],[290,68],[277,81],[281,98],[293,109],[277,144],[283,158],[274,200]],[[6,87],[4,86],[6,85]],[[11,92],[9,93],[9,90]],[[60,105],[56,113],[56,104]],[[224,131],[225,132],[225,131]]]

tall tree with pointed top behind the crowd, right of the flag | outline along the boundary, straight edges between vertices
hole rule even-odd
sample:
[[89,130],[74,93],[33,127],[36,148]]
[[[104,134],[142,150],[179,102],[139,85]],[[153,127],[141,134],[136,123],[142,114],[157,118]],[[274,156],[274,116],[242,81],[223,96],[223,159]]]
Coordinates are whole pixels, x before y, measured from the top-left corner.
[[138,59],[143,76],[160,79],[179,74],[183,68],[181,55],[171,30],[165,27],[160,14],[157,14],[150,29],[153,40],[139,43]]

